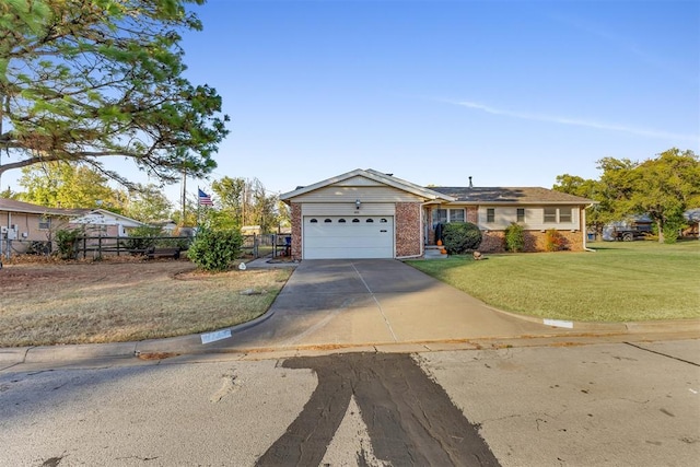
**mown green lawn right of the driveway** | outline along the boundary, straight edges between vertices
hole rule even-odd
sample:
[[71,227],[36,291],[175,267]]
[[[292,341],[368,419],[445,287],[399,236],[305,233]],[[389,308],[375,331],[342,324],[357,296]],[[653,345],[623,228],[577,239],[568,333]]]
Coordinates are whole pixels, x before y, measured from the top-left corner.
[[500,310],[578,322],[700,318],[700,242],[408,261]]

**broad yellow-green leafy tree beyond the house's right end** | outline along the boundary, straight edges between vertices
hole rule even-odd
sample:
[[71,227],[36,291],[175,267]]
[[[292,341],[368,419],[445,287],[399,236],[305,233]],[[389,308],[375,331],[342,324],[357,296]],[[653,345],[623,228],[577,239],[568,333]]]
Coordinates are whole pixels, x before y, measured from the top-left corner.
[[700,208],[700,159],[690,150],[672,148],[643,162],[604,157],[598,170],[599,179],[563,174],[553,186],[597,201],[586,210],[586,222],[598,235],[610,222],[646,214],[658,242],[674,242],[686,225],[684,212]]

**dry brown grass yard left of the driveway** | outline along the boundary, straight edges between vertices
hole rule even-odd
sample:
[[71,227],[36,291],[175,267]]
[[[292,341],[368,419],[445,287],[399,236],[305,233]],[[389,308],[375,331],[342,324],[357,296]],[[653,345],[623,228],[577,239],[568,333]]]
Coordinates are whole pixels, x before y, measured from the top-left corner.
[[[199,273],[187,261],[8,265],[0,347],[117,342],[196,334],[264,314],[290,270]],[[253,290],[255,294],[241,294]]]

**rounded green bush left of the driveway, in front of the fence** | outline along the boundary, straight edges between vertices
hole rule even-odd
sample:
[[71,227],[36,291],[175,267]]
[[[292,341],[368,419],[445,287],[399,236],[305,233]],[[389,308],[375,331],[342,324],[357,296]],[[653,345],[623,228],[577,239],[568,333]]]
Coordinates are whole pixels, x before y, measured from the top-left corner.
[[241,253],[243,235],[234,230],[201,229],[187,256],[206,271],[225,271]]

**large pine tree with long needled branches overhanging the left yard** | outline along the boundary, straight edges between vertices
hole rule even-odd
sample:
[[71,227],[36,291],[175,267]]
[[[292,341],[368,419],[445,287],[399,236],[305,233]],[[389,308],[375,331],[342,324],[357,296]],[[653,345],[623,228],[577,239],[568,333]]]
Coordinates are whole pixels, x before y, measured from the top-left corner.
[[203,0],[0,2],[0,175],[50,161],[124,156],[173,182],[215,167],[221,97],[183,78],[187,3]]

